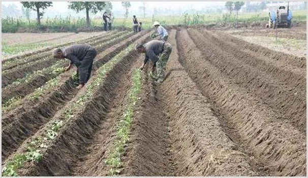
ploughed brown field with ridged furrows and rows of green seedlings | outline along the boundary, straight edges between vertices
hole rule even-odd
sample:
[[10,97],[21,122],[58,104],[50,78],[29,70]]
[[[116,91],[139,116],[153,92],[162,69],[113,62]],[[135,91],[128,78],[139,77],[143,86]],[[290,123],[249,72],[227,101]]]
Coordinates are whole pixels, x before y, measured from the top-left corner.
[[161,85],[134,50],[152,31],[76,37],[98,51],[80,90],[51,47],[3,60],[2,175],[305,176],[306,55],[258,30],[169,29]]

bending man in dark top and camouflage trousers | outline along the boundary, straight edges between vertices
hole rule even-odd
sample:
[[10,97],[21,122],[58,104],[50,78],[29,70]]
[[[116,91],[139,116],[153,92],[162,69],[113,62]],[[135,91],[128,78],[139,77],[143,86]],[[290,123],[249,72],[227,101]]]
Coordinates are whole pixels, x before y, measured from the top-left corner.
[[157,77],[153,77],[156,79],[155,83],[162,83],[165,80],[166,65],[172,51],[170,43],[159,40],[152,40],[144,45],[136,44],[135,50],[137,50],[139,53],[145,53],[144,62],[140,69],[142,70],[148,59],[150,59],[153,63],[152,72],[154,73],[155,69],[157,68]]

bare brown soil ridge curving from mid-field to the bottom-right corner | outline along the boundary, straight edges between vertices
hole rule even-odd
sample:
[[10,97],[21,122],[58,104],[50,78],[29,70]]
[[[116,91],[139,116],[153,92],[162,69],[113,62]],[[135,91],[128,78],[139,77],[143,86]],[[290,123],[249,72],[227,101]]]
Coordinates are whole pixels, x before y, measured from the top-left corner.
[[232,76],[215,67],[210,56],[198,50],[186,30],[179,31],[177,45],[180,62],[211,100],[215,113],[228,123],[235,135],[232,139],[269,169],[269,175],[305,175],[305,133],[280,120],[247,89],[233,83]]

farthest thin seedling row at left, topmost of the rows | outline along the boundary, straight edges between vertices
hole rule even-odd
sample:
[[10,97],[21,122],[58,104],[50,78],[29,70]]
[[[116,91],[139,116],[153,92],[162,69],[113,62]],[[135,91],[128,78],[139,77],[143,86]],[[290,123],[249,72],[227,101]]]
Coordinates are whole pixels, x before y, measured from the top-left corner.
[[57,44],[57,45],[45,47],[43,49],[39,49],[39,50],[36,50],[36,51],[25,52],[25,53],[20,54],[20,55],[8,57],[8,58],[2,60],[2,63],[4,64],[4,63],[7,63],[7,62],[12,62],[16,59],[21,59],[21,58],[36,57],[37,55],[42,55],[42,53],[45,53],[46,51],[48,52],[48,51],[55,49],[55,48],[60,48],[60,47],[63,47],[63,46],[74,44],[74,43],[83,43],[83,42],[87,43],[91,40],[103,38],[103,37],[110,35],[110,34],[113,34],[113,33],[116,33],[116,32],[112,32],[112,33],[107,32],[107,33],[91,36],[90,38],[83,38],[83,39],[80,39],[80,40],[77,40],[77,41],[71,41],[69,43],[65,42],[65,43],[62,43],[62,44]]

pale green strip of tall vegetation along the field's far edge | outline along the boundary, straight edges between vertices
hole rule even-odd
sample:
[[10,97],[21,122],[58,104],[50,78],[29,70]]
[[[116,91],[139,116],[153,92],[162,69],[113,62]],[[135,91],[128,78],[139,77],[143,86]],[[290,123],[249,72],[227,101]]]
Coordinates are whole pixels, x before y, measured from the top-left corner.
[[[292,11],[293,23],[299,21],[306,21],[306,11]],[[183,13],[181,16],[152,16],[147,18],[137,17],[142,22],[142,29],[151,29],[154,21],[159,21],[164,25],[193,25],[193,24],[206,24],[206,23],[235,23],[236,18],[234,15],[230,16],[228,13],[212,13],[212,14],[188,14]],[[251,23],[251,22],[267,22],[268,12],[259,13],[240,13],[238,14],[238,22]],[[90,19],[90,27],[102,27],[102,18]],[[73,17],[55,17],[43,18],[41,21],[42,26],[38,27],[36,19],[22,19],[22,18],[2,18],[2,32],[16,32],[19,28],[28,28],[35,30],[49,30],[54,31],[76,31],[78,28],[86,26],[85,18]],[[112,24],[113,28],[126,27],[132,29],[132,17],[130,18],[115,18]]]

